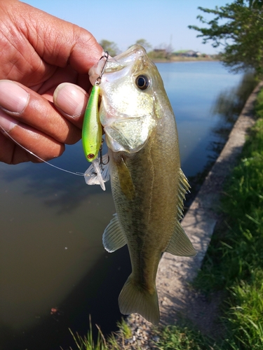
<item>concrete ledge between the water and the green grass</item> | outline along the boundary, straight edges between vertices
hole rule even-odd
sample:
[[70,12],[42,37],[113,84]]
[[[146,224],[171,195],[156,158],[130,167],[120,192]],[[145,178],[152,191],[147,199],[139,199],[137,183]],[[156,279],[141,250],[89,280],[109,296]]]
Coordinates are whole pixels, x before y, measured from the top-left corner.
[[[206,332],[213,328],[220,296],[215,295],[215,299],[208,302],[203,295],[198,295],[189,288],[189,282],[193,281],[198,269],[201,268],[215,224],[220,218],[218,209],[224,180],[236,165],[238,155],[245,144],[245,136],[255,123],[254,104],[257,93],[262,87],[263,82],[259,83],[250,94],[229,134],[227,144],[182,221],[185,232],[196,248],[196,257],[184,258],[170,253],[163,254],[156,279],[163,325],[174,324],[178,316],[183,315]],[[135,314],[130,315],[127,321],[133,330],[133,337],[128,341],[130,345],[128,349],[137,349],[138,345],[142,350],[154,349],[151,342],[151,324],[142,316]]]

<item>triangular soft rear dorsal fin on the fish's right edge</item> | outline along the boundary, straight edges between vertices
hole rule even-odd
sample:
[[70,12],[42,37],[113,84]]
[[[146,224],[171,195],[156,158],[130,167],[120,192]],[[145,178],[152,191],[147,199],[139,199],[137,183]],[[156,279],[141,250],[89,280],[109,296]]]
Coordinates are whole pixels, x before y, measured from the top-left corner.
[[170,239],[170,243],[166,248],[166,251],[167,253],[177,256],[196,255],[196,250],[193,244],[191,244],[190,239],[187,237],[179,221],[176,224],[175,232],[173,232],[173,236]]

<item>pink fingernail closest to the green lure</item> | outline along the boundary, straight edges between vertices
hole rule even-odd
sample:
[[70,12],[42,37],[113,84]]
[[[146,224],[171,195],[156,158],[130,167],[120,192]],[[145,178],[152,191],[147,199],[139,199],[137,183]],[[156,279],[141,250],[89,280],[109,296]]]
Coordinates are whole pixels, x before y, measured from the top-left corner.
[[84,113],[88,97],[86,91],[78,85],[62,83],[55,89],[53,101],[60,111],[76,118]]

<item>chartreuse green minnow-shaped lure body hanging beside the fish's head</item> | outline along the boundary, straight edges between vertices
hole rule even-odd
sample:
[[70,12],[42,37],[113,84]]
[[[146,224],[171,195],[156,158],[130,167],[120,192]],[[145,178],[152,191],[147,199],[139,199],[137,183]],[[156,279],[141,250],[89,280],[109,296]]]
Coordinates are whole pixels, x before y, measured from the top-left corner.
[[93,162],[97,158],[102,144],[102,125],[98,110],[99,95],[100,86],[94,85],[83,120],[82,144],[88,162]]

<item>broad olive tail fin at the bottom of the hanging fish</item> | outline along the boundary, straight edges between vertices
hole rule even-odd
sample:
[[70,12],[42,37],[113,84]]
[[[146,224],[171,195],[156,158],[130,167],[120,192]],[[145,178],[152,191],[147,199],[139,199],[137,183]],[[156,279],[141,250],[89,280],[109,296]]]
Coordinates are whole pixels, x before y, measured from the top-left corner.
[[138,288],[132,274],[128,277],[119,295],[119,307],[121,314],[128,315],[137,312],[155,325],[160,321],[156,287],[154,286],[154,293]]

